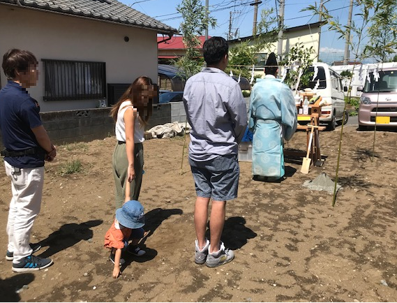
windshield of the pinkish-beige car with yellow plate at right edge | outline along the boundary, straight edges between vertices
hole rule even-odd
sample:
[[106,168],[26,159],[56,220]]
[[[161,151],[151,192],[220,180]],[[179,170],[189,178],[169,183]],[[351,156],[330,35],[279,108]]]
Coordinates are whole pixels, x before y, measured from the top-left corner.
[[369,80],[367,78],[364,93],[378,91],[382,93],[397,91],[397,71],[380,71],[379,78],[376,73],[375,75],[373,72],[369,73]]

